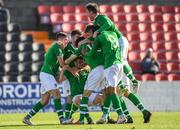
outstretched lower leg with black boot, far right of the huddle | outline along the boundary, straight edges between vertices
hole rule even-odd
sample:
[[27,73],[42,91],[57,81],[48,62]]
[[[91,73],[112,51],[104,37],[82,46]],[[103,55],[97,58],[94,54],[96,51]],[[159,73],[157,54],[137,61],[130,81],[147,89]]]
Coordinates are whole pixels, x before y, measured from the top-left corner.
[[152,114],[144,107],[138,96],[130,91],[126,92],[124,96],[128,98],[143,113],[144,123],[148,123]]

